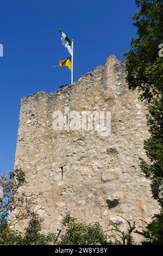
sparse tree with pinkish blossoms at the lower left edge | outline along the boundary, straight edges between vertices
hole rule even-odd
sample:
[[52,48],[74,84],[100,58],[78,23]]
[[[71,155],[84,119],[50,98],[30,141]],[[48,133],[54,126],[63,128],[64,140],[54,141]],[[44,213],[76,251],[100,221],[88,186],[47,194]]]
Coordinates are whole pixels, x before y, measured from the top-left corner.
[[[10,227],[31,214],[31,200],[27,199],[24,193],[18,193],[23,184],[26,184],[26,180],[21,169],[10,172],[9,177],[0,176],[0,186],[3,191],[3,197],[0,198],[0,244],[14,245],[21,241],[21,234],[11,230]],[[14,210],[16,210],[15,218],[9,218],[9,213]]]

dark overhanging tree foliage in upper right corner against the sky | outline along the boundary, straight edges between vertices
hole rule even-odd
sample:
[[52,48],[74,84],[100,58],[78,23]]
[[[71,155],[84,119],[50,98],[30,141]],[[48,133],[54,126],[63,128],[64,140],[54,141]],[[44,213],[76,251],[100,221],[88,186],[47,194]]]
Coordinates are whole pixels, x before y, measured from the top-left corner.
[[138,88],[141,98],[151,101],[154,95],[163,92],[163,58],[158,56],[163,43],[162,0],[136,0],[139,11],[133,15],[137,38],[131,38],[127,56],[127,82],[129,89]]

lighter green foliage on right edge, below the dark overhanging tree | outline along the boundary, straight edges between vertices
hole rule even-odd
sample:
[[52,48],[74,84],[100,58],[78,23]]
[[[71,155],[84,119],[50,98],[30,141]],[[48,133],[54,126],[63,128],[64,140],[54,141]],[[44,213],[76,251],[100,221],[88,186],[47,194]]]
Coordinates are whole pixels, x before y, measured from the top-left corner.
[[153,198],[163,208],[159,187],[163,185],[163,98],[155,99],[149,107],[148,126],[151,137],[145,140],[144,148],[150,161],[141,160],[141,169],[151,180]]

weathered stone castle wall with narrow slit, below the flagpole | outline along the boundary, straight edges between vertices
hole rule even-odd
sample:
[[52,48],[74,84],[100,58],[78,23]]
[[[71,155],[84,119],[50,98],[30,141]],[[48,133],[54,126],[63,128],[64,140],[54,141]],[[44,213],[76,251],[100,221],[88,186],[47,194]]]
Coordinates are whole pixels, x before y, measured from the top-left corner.
[[[136,91],[129,92],[125,77],[125,63],[110,56],[73,86],[22,98],[15,167],[26,173],[22,190],[37,202],[45,232],[57,231],[66,211],[108,230],[110,222],[126,227],[120,216],[144,225],[158,210],[139,168],[148,136],[146,108]],[[111,135],[54,131],[53,112],[65,107],[111,111]]]

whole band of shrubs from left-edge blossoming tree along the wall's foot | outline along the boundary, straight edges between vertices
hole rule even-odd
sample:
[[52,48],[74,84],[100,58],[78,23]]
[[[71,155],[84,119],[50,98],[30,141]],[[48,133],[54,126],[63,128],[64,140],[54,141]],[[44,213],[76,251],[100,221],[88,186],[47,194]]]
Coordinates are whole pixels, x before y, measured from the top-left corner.
[[[0,184],[3,187],[4,198],[0,201],[0,245],[117,245],[133,242],[131,232],[133,227],[129,224],[128,232],[124,233],[117,227],[115,230],[121,233],[123,242],[107,242],[108,237],[102,230],[99,223],[85,224],[77,221],[76,218],[67,214],[62,221],[64,233],[55,236],[53,233],[47,235],[42,233],[42,219],[30,209],[30,204],[26,194],[20,196],[18,188],[26,183],[22,170],[15,170],[9,175],[1,176]],[[9,220],[9,211],[16,209],[15,218]],[[12,230],[11,225],[21,220],[29,220],[28,227],[24,228],[21,234],[17,230]],[[127,243],[126,243],[127,241]]]

